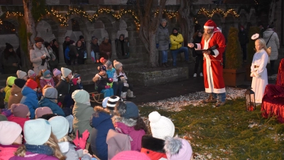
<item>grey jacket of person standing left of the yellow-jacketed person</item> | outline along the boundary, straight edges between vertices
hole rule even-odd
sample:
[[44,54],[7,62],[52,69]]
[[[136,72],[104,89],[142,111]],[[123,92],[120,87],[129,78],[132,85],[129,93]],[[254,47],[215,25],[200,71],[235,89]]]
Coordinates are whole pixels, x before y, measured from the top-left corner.
[[157,33],[155,33],[155,43],[159,44],[158,50],[169,50],[170,34],[168,25],[165,28],[162,25],[158,27]]

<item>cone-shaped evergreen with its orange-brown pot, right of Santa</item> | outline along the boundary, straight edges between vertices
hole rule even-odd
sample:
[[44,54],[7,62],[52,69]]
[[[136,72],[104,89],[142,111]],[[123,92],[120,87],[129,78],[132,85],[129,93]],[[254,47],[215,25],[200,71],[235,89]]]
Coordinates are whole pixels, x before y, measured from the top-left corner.
[[228,43],[226,45],[226,65],[223,70],[225,85],[243,85],[246,70],[242,68],[241,45],[239,43],[238,28],[229,29]]

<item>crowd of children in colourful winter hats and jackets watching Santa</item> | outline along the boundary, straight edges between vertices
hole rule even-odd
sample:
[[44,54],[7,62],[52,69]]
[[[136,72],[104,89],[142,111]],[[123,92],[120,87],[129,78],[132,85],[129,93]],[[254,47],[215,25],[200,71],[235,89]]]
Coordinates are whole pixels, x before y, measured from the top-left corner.
[[167,117],[149,114],[149,134],[138,107],[126,101],[135,96],[123,65],[101,61],[92,80],[104,94],[102,107],[92,107],[80,75],[68,68],[7,78],[0,159],[190,159],[190,144],[173,137]]

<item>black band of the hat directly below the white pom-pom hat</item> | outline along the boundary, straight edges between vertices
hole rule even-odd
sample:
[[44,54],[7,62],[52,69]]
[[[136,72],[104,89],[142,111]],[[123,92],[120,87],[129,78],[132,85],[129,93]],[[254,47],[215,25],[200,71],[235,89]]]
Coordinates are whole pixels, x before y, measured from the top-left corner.
[[142,137],[142,148],[149,149],[160,153],[165,153],[165,140],[157,139],[151,135],[144,135]]

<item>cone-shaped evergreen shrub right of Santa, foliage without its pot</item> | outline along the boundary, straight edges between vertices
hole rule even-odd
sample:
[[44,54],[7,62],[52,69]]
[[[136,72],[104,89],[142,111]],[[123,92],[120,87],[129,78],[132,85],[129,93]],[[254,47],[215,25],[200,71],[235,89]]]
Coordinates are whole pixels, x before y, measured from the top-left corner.
[[241,68],[241,45],[239,43],[238,28],[229,29],[228,43],[226,46],[226,69]]

